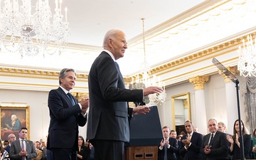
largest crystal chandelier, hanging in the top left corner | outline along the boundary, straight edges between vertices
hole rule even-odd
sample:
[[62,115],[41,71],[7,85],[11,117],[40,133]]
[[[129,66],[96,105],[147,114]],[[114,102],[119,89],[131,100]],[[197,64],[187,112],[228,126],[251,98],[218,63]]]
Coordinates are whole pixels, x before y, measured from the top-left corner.
[[[0,51],[33,56],[38,53],[61,53],[68,48],[67,11],[61,9],[62,0],[55,0],[52,15],[48,0],[0,0]],[[21,3],[22,2],[22,3]],[[53,22],[51,22],[53,21]]]

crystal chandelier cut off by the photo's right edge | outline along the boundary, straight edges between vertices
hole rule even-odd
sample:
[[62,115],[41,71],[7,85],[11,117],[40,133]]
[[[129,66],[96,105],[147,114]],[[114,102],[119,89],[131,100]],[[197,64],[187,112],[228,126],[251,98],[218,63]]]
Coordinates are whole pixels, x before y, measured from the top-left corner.
[[238,53],[238,70],[240,70],[240,75],[245,77],[253,75],[256,77],[256,45],[253,44],[251,35],[247,36],[246,42],[244,39],[242,40]]

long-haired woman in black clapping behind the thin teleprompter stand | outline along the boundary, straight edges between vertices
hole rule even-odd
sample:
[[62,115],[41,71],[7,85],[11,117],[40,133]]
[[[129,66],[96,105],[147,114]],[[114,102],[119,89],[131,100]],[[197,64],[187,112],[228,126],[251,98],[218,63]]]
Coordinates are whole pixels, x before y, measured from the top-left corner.
[[[244,142],[245,159],[250,159],[250,151],[252,151],[251,138],[249,134],[246,134],[245,125],[241,121],[242,136]],[[240,132],[239,132],[238,119],[234,123],[233,136],[227,134],[228,142],[230,142],[230,154],[233,155],[232,159],[240,159]]]

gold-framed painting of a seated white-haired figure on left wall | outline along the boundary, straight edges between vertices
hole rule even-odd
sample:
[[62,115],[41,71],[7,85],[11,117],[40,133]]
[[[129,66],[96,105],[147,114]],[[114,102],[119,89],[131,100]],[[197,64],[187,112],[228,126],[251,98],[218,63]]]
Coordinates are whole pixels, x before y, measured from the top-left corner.
[[9,134],[14,134],[18,139],[18,132],[21,127],[28,128],[29,136],[29,106],[1,106],[1,140],[8,140]]

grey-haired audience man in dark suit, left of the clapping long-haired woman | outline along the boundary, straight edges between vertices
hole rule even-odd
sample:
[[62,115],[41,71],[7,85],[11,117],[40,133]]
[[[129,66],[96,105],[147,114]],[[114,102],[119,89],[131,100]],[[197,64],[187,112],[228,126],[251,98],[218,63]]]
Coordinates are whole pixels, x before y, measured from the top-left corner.
[[228,158],[228,140],[226,134],[218,131],[216,119],[208,120],[209,134],[203,137],[201,154],[206,160],[229,159]]

